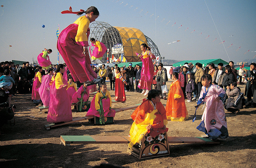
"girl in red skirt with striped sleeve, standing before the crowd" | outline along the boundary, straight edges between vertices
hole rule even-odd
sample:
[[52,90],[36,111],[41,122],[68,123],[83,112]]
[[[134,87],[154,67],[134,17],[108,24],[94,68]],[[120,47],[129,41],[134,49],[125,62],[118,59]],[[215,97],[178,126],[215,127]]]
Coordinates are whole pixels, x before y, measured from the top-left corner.
[[120,73],[120,68],[116,68],[116,87],[115,87],[115,96],[116,101],[124,102],[126,101],[126,94],[124,91],[124,83],[128,85],[128,83],[123,79],[123,76]]

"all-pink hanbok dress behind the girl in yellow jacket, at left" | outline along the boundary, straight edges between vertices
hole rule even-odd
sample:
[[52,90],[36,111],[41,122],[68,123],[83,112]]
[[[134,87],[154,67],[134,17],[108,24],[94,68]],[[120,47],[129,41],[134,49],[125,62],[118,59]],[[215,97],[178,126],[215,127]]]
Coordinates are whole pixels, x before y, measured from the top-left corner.
[[52,76],[50,76],[49,74],[44,75],[42,77],[42,84],[38,90],[44,106],[49,106],[49,103],[50,103],[50,81],[51,80],[52,80]]

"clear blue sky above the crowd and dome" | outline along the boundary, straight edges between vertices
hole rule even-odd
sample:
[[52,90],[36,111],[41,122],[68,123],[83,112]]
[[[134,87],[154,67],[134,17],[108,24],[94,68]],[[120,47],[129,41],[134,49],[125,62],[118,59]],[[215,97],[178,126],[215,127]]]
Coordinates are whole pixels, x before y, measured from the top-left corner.
[[61,31],[78,18],[60,13],[69,6],[73,11],[96,6],[100,12],[96,21],[140,29],[165,59],[239,62],[256,55],[252,52],[256,51],[255,0],[2,0],[0,5],[4,5],[0,7],[0,61],[32,62],[43,48],[51,48],[50,60],[56,64],[58,24]]

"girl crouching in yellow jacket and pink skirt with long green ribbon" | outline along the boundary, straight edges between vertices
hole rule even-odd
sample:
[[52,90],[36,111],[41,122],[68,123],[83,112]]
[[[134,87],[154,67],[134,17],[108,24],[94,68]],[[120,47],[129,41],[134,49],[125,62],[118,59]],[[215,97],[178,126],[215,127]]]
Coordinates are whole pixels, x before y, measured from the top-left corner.
[[105,124],[105,117],[114,117],[116,111],[111,109],[111,95],[107,91],[105,83],[100,84],[100,91],[94,96],[91,102],[91,107],[86,116],[100,117],[100,124]]

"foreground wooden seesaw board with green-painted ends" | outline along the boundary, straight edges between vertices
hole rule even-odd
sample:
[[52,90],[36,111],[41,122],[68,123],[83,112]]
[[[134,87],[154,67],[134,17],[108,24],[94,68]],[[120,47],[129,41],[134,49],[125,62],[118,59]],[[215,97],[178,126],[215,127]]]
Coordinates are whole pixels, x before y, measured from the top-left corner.
[[[63,145],[70,144],[128,144],[129,136],[60,135]],[[168,137],[169,144],[220,144],[202,137]]]

